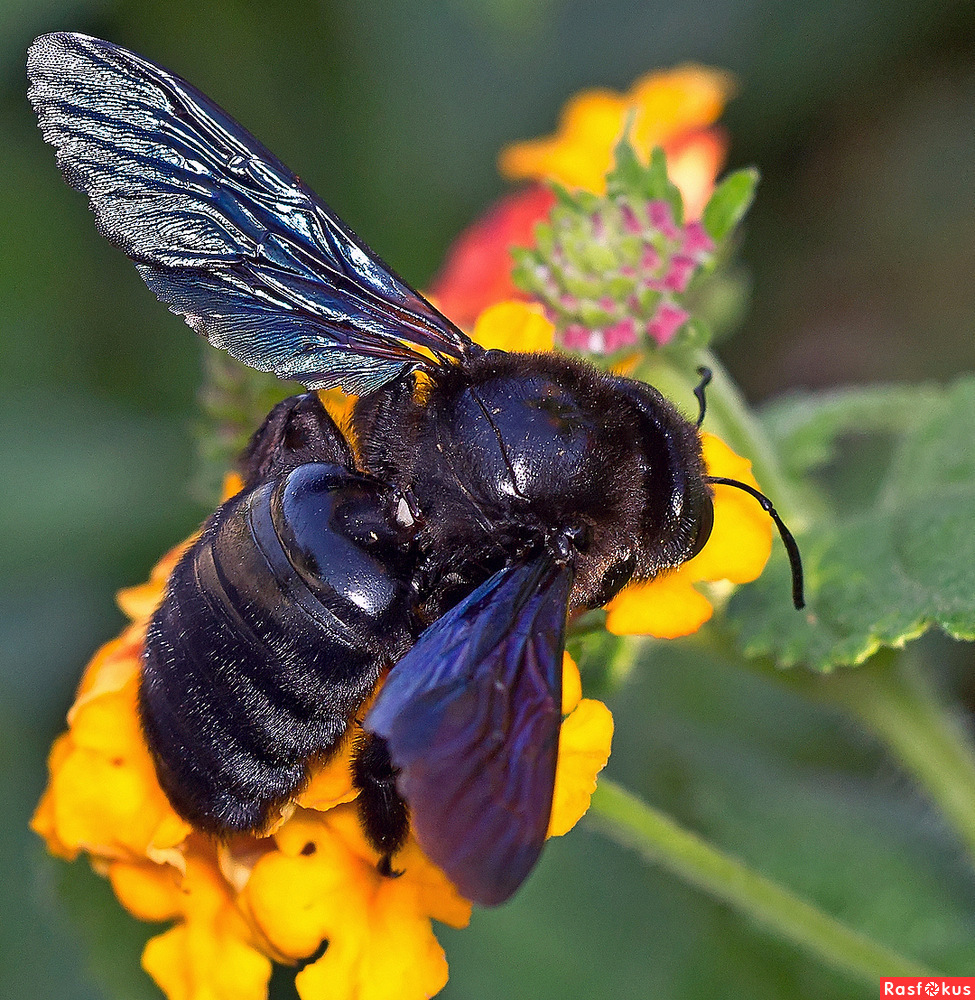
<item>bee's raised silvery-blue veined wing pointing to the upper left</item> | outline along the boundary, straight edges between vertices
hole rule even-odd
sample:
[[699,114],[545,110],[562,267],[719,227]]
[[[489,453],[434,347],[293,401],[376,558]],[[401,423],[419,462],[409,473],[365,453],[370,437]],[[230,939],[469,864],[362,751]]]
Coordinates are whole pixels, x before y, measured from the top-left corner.
[[[468,338],[196,88],[86,35],[42,35],[29,97],[68,183],[146,284],[212,344],[365,393]],[[432,352],[436,360],[431,360]]]

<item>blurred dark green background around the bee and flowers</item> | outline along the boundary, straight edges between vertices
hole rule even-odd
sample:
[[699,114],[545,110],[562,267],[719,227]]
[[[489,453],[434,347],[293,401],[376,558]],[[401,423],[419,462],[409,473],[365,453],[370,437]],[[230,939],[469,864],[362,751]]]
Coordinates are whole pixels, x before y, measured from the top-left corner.
[[[26,823],[80,670],[121,624],[115,590],[205,514],[184,485],[202,345],[97,236],[24,96],[27,45],[59,29],[187,77],[420,287],[502,190],[498,150],[551,131],[574,91],[726,67],[741,86],[731,165],[764,178],[743,244],[751,304],[722,345],[748,394],[975,366],[971,0],[3,0],[5,1000],[158,996],[137,968],[148,930]],[[971,665],[967,649],[931,652]],[[957,845],[841,719],[679,648],[654,651],[614,708],[610,773],[892,946],[975,971]],[[892,870],[910,898],[885,896]],[[874,995],[584,830],[513,904],[442,940],[453,1000]]]

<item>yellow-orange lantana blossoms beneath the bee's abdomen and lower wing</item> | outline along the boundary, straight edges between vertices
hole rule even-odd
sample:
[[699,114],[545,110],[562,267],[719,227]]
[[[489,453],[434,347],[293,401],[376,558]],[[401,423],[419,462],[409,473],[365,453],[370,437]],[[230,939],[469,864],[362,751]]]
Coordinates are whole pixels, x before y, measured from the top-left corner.
[[[533,325],[528,317],[525,327]],[[341,419],[341,400],[326,405]],[[240,485],[229,477],[226,494]],[[135,917],[174,922],[143,953],[169,1000],[264,1000],[274,961],[303,963],[302,1000],[433,996],[447,963],[432,921],[463,927],[471,904],[412,839],[396,856],[403,875],[379,873],[351,804],[350,739],[264,836],[218,844],[182,820],[159,787],[138,716],[141,656],[166,580],[192,541],[119,594],[132,624],[85,671],[68,730],[51,750],[33,829],[60,857],[87,853]],[[585,813],[612,738],[609,710],[581,697],[568,656],[563,673],[551,836]]]

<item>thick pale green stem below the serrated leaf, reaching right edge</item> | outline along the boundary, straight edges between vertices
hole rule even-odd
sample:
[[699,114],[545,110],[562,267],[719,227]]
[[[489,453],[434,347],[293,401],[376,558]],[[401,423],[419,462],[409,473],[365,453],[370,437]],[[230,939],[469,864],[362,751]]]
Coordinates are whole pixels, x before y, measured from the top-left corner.
[[883,650],[856,670],[810,681],[870,729],[939,807],[975,858],[975,754],[913,653]]

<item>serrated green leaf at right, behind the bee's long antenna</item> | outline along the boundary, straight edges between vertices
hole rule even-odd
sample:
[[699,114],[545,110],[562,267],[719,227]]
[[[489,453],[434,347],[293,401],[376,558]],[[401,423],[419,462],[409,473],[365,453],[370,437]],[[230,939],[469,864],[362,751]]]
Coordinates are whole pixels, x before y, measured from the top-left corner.
[[856,417],[893,435],[892,457],[871,502],[831,511],[799,538],[805,611],[789,605],[780,550],[735,594],[728,614],[747,655],[825,671],[934,627],[975,639],[975,380],[883,392],[804,400],[791,431],[802,461],[835,454],[838,435],[863,426]]

